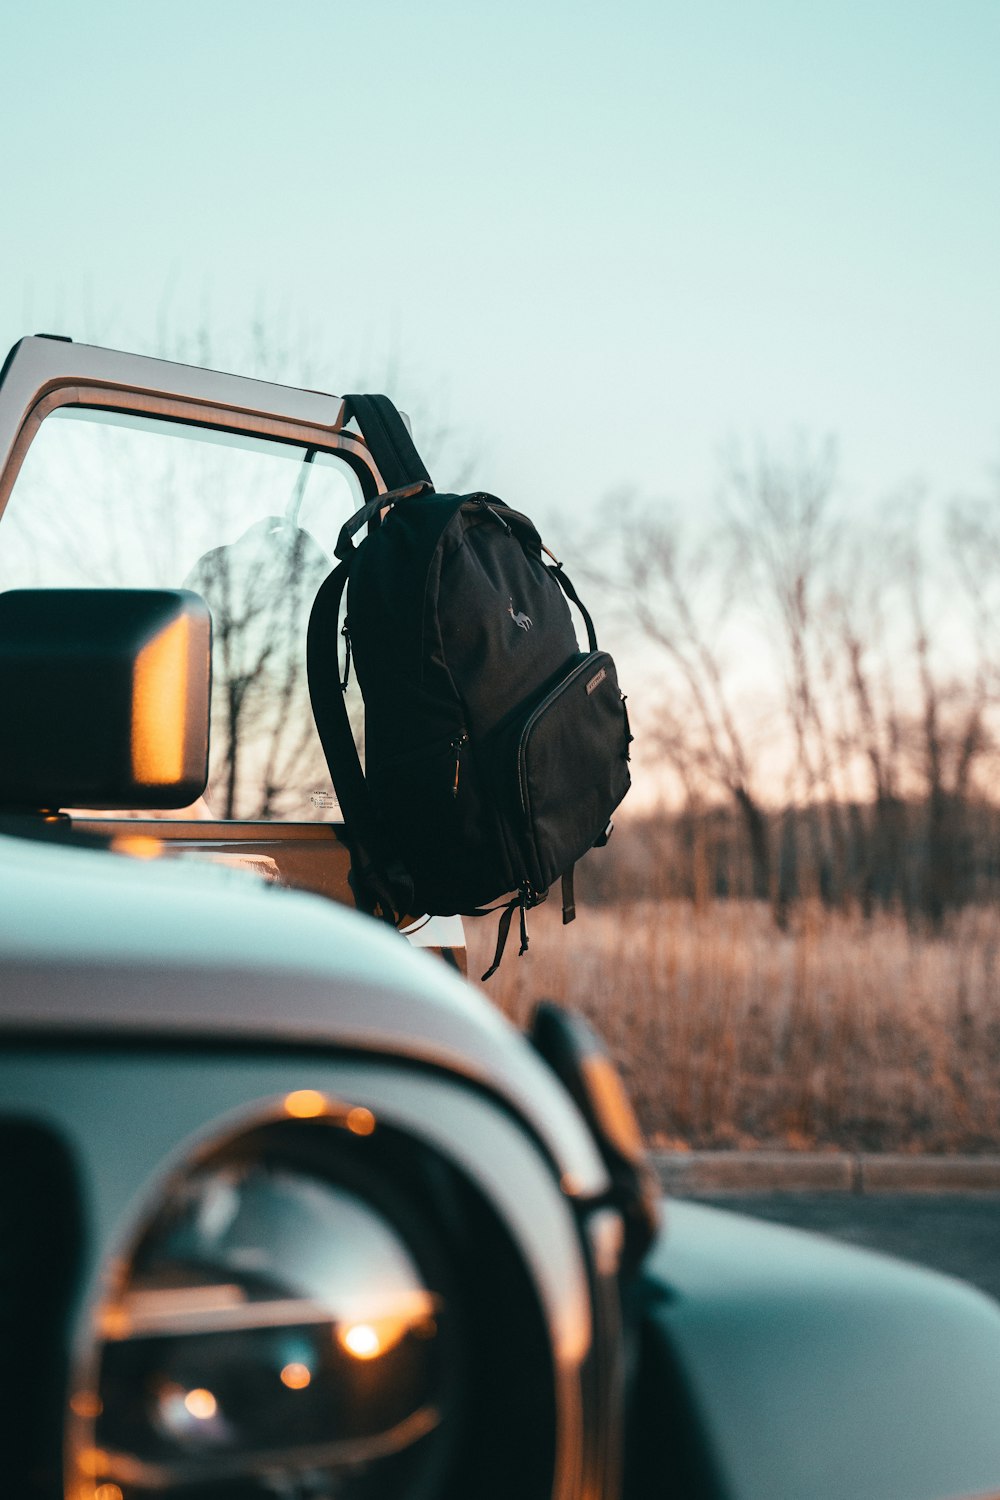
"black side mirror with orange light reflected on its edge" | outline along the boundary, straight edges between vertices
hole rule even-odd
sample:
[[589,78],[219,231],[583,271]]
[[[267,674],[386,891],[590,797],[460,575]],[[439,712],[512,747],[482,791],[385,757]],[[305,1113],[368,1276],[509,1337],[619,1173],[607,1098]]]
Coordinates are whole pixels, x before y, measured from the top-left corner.
[[187,807],[208,778],[210,686],[198,594],[0,594],[0,808]]

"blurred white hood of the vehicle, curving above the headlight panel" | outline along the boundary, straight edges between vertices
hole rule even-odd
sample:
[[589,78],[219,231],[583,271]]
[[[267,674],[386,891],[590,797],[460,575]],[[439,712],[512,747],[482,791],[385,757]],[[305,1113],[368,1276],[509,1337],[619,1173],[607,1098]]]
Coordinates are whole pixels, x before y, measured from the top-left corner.
[[568,1191],[607,1186],[579,1112],[520,1032],[369,916],[193,860],[7,837],[0,914],[7,1041],[40,1032],[402,1056],[501,1095]]

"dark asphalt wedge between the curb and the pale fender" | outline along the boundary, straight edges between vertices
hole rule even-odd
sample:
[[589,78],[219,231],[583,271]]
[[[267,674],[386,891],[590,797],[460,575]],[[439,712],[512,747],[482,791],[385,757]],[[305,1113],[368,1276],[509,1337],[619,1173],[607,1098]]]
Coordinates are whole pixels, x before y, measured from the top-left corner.
[[[687,1196],[687,1194],[685,1194]],[[691,1194],[693,1197],[696,1194]],[[1000,1299],[1000,1194],[697,1194],[700,1203],[792,1224],[972,1281]]]

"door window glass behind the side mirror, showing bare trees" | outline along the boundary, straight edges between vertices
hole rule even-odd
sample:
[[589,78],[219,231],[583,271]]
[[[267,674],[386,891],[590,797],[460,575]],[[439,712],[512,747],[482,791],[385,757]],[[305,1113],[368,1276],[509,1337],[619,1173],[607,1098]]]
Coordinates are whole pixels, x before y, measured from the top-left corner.
[[0,590],[201,594],[213,615],[211,754],[192,814],[325,820],[336,798],[309,706],[306,627],[361,502],[331,453],[60,406],[3,512]]

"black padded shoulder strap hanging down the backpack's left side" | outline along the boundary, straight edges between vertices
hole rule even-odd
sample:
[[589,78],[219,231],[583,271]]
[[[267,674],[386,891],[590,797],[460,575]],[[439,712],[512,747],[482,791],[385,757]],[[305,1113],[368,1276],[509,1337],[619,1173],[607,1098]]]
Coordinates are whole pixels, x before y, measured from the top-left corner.
[[382,915],[388,921],[396,921],[397,915],[408,910],[411,882],[402,868],[393,867],[384,856],[382,837],[369,801],[364,771],[340,692],[337,663],[330,660],[330,642],[337,640],[340,600],[349,572],[349,561],[340,562],[319,585],[313,600],[306,634],[309,700],[343,812],[355,898],[369,912],[373,912],[376,904],[381,906]]

